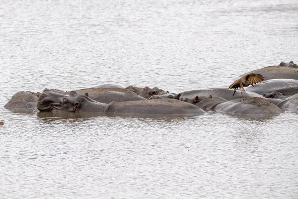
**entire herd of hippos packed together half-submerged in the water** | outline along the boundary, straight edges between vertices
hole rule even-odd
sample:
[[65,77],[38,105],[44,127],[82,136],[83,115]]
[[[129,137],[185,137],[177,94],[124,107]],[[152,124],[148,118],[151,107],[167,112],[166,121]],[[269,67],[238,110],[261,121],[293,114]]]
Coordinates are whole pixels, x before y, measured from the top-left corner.
[[[244,91],[244,88],[245,91]],[[165,92],[156,87],[118,85],[65,92],[18,92],[7,109],[103,115],[200,115],[216,111],[233,115],[277,115],[298,111],[298,66],[293,61],[244,74],[227,88]]]

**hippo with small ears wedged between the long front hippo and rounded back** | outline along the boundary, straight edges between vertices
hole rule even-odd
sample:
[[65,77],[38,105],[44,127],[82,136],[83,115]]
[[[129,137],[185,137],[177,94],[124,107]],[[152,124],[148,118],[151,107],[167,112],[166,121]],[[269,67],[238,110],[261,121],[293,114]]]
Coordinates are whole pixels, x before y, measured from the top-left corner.
[[180,97],[179,100],[194,104],[203,110],[212,110],[212,107],[218,103],[225,102],[224,98],[217,96],[209,96],[209,97],[199,97],[196,96],[193,99]]

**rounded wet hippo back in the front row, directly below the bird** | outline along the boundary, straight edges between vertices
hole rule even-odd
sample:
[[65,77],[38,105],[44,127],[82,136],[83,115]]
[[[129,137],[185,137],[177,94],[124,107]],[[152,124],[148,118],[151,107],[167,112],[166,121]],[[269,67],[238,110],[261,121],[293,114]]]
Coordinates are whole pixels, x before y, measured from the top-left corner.
[[237,115],[277,115],[284,112],[277,105],[263,98],[235,99],[214,105],[212,110]]

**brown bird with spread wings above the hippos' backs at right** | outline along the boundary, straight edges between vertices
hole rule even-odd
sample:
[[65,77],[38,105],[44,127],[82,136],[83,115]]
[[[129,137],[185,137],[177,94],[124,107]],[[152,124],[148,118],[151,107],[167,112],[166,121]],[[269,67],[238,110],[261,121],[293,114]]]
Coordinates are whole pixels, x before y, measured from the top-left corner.
[[241,95],[243,96],[245,94],[245,90],[243,87],[248,87],[249,85],[253,86],[253,84],[260,83],[264,80],[265,79],[261,74],[249,73],[236,80],[233,84],[229,86],[229,89],[234,89],[233,96],[235,95],[237,90],[240,90]]

